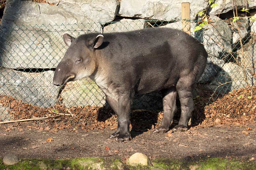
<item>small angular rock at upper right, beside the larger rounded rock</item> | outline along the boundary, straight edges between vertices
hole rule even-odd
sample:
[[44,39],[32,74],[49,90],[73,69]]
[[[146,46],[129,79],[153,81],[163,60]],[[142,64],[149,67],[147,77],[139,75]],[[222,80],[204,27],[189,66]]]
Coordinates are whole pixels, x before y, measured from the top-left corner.
[[[231,23],[231,30],[233,32],[233,44],[240,43],[240,37],[241,40],[246,40],[248,37],[248,27],[249,27],[249,22],[248,18],[240,18],[237,22]],[[239,31],[240,35],[239,35]]]

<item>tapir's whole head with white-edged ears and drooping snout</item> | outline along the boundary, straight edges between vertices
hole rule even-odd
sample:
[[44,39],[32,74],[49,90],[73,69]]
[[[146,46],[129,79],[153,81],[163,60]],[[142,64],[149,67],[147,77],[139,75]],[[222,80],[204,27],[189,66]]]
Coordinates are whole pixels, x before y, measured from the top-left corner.
[[63,39],[69,47],[54,72],[53,84],[56,86],[94,73],[97,67],[95,50],[102,44],[103,35],[90,34],[74,38],[65,33]]

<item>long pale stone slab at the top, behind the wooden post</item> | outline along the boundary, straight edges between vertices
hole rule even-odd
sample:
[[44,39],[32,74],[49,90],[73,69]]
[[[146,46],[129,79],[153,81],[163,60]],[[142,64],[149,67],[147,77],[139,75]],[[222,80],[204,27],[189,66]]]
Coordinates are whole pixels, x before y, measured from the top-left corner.
[[[182,0],[121,0],[117,15],[125,17],[138,17],[144,19],[170,20],[181,18]],[[207,0],[187,0],[190,2],[191,19],[195,19],[196,13],[206,9]]]

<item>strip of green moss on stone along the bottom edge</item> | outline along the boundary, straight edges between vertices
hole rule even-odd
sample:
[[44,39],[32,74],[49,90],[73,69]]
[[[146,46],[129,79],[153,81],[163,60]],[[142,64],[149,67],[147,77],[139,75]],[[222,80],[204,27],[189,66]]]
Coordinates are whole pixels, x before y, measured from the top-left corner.
[[155,159],[150,166],[130,166],[120,159],[75,158],[75,159],[22,159],[15,165],[4,165],[0,159],[0,170],[247,170],[256,169],[256,161],[241,161],[225,158],[205,158],[200,161],[178,161],[173,159]]

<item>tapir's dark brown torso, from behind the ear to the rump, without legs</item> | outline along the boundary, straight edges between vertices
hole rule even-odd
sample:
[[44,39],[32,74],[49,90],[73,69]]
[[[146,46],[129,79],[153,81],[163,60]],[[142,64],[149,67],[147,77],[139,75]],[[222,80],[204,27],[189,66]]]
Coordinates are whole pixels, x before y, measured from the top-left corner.
[[103,35],[108,43],[100,50],[112,68],[111,75],[124,75],[119,81],[131,86],[137,83],[138,93],[175,85],[181,74],[195,67],[203,72],[205,67],[203,45],[180,30],[148,28]]

